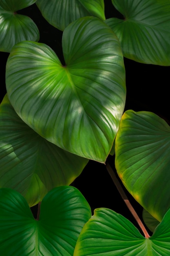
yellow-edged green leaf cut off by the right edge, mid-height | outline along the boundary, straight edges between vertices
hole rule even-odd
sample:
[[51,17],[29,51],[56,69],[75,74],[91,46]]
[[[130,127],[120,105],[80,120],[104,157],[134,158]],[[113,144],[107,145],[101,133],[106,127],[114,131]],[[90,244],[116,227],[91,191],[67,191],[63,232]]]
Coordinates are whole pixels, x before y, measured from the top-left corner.
[[115,140],[115,166],[126,189],[157,220],[170,208],[170,127],[152,112],[128,110]]

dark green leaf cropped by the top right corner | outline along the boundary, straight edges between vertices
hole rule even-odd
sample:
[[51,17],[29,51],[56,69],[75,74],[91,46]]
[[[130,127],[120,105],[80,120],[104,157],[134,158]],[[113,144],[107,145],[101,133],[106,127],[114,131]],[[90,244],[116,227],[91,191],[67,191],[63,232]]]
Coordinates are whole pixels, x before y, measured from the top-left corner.
[[106,23],[120,40],[123,55],[134,61],[170,65],[170,1],[112,0],[124,20]]

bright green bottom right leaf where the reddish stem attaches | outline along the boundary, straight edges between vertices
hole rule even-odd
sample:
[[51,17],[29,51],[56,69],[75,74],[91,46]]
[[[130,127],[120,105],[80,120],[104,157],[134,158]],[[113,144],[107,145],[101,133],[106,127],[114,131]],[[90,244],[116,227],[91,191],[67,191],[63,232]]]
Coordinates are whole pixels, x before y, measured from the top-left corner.
[[126,218],[106,208],[95,209],[84,225],[74,256],[168,256],[170,210],[150,238],[144,238]]

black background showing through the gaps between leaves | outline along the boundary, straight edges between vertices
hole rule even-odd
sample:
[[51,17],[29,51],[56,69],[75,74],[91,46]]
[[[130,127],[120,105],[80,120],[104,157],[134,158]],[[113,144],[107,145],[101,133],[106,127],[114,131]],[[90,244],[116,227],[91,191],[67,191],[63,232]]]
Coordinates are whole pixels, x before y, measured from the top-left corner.
[[[18,11],[18,13],[27,15],[33,19],[40,31],[39,42],[49,45],[63,63],[61,45],[62,31],[59,31],[55,27],[51,26],[42,17],[36,4]],[[113,7],[111,0],[105,1],[105,15],[106,18],[122,18],[121,14],[119,14],[118,11]],[[8,56],[9,53],[0,52],[0,101],[2,101],[4,94],[6,93],[5,65]],[[146,110],[155,112],[169,123],[170,67],[141,64],[126,58],[124,58],[124,63],[126,68],[127,88],[125,110],[132,109],[135,111]],[[109,156],[108,162],[115,171],[114,156]],[[82,192],[92,210],[97,207],[107,207],[113,209],[117,213],[121,213],[137,226],[137,223],[115,188],[115,185],[113,184],[113,181],[111,180],[104,164],[89,161],[82,174],[77,177],[73,185]],[[126,191],[126,189],[124,189],[124,191]],[[142,207],[127,191],[126,194],[128,195],[133,207],[139,214],[139,217],[141,217]],[[37,207],[32,207],[32,211],[33,214],[36,215]]]

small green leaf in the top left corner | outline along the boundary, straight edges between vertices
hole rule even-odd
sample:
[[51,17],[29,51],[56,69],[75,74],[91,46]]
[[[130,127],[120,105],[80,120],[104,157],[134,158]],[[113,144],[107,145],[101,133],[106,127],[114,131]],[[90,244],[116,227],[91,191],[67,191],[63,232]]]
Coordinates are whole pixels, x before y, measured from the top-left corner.
[[36,0],[0,1],[0,51],[11,52],[13,45],[23,40],[39,40],[39,30],[31,18],[16,11],[28,7]]

